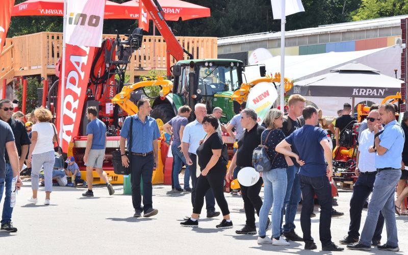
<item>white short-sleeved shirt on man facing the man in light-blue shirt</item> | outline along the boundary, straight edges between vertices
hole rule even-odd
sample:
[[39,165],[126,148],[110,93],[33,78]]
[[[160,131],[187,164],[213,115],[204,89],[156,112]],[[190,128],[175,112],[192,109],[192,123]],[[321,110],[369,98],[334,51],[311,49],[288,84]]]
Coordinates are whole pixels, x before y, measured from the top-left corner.
[[369,129],[364,130],[359,135],[359,169],[360,172],[374,172],[376,171],[375,153],[368,152],[368,148],[374,144],[374,131],[371,132]]

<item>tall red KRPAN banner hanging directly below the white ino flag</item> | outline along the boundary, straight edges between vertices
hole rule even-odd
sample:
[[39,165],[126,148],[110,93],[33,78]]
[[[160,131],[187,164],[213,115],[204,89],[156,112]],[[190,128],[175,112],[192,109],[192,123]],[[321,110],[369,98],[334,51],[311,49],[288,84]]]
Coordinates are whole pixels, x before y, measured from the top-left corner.
[[[82,111],[85,105],[86,89],[95,48],[66,44],[64,99],[61,98],[62,89],[58,90],[57,126],[60,127],[61,107],[64,113],[62,118],[62,150],[68,151],[68,144],[78,136],[82,121]],[[61,71],[62,74],[62,71]],[[62,104],[62,105],[61,105]]]

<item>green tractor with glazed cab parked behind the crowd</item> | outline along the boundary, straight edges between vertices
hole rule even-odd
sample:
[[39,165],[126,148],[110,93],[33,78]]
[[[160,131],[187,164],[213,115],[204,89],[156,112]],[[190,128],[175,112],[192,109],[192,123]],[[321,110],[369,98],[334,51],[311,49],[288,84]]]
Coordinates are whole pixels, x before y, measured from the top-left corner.
[[207,106],[212,113],[215,107],[223,110],[222,123],[239,113],[240,105],[231,99],[233,92],[242,84],[244,63],[233,59],[182,60],[172,66],[173,93],[158,97],[152,104],[150,116],[164,123],[177,114],[177,110],[188,105],[194,112],[198,103]]

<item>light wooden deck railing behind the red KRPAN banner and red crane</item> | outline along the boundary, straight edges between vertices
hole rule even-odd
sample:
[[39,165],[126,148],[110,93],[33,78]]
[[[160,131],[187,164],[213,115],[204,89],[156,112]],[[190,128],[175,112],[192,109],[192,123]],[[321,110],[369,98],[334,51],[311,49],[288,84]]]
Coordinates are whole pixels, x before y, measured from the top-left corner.
[[[116,35],[104,35],[115,38]],[[121,35],[121,39],[125,36]],[[217,38],[176,37],[195,59],[217,58]],[[0,54],[0,81],[17,76],[40,74],[44,79],[55,74],[55,64],[62,55],[62,33],[41,32],[6,39]],[[187,55],[185,57],[187,59]],[[175,63],[172,58],[170,65]],[[142,47],[127,66],[130,82],[151,69],[166,70],[166,43],[161,36],[143,36]],[[0,82],[2,84],[3,82]]]

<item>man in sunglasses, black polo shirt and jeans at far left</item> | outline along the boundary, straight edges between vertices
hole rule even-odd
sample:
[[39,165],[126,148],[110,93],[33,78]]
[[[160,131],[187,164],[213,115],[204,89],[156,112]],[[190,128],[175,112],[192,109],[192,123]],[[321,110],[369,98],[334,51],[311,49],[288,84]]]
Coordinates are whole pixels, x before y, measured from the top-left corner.
[[[12,118],[13,115],[13,104],[9,99],[1,99],[0,100],[0,119],[7,122],[11,130],[13,131],[15,144],[17,147],[18,157],[19,157],[19,171],[21,170],[25,155],[27,155],[27,151],[29,148],[29,144],[31,143],[30,138],[25,130],[25,126],[22,122]],[[2,231],[8,232],[16,232],[17,228],[13,227],[11,223],[11,215],[13,213],[13,208],[10,207],[10,197],[11,197],[11,183],[13,181],[13,170],[10,164],[9,155],[6,151],[5,156],[6,160],[6,197],[4,199],[4,206],[3,206],[3,214],[2,214]],[[18,177],[19,179],[19,177]]]

